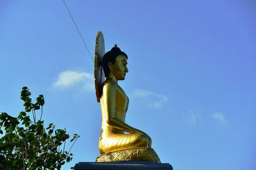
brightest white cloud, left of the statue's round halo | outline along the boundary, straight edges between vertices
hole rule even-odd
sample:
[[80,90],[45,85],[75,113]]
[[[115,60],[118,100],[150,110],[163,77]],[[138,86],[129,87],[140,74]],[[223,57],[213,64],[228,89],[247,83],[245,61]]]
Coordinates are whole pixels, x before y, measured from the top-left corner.
[[[67,89],[79,83],[83,84],[84,89],[94,89],[93,74],[79,71],[62,71],[58,74],[58,78],[52,83],[54,88]],[[93,87],[93,88],[92,88]]]

